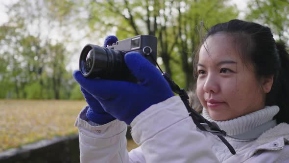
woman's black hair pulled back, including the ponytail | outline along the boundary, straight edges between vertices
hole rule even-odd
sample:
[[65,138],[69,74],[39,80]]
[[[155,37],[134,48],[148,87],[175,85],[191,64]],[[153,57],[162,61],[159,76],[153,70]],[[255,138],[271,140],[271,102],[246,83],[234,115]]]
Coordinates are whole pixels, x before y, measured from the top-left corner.
[[[289,54],[285,43],[275,42],[269,27],[236,19],[211,27],[203,40],[220,32],[237,37],[235,40],[238,42],[241,58],[244,63],[249,61],[253,64],[257,79],[274,77],[271,91],[266,94],[265,105],[277,105],[280,108],[274,117],[277,123],[289,123]],[[194,63],[197,61],[198,53]]]

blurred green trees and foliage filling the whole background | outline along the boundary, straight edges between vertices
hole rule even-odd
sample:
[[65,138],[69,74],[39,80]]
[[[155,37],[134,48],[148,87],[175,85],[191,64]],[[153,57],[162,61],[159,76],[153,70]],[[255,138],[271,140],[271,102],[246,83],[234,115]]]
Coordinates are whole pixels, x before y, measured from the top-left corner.
[[[275,39],[288,42],[288,0],[247,4],[244,20],[271,27]],[[83,99],[71,65],[85,44],[101,45],[108,34],[155,35],[161,67],[190,88],[200,34],[240,13],[230,0],[16,0],[5,12],[0,98],[73,100]]]

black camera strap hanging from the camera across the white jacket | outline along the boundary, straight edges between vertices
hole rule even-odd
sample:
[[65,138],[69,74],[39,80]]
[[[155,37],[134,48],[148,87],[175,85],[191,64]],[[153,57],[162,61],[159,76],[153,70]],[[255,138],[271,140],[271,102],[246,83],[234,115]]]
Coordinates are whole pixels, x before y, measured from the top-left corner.
[[223,136],[227,136],[227,133],[225,131],[221,130],[219,128],[219,126],[217,125],[217,123],[208,121],[202,115],[200,115],[198,112],[196,112],[193,108],[191,108],[190,103],[189,103],[189,96],[188,96],[187,92],[184,89],[181,89],[170,78],[168,73],[163,72],[162,69],[160,68],[160,66],[158,65],[158,63],[156,62],[156,60],[153,58],[153,56],[152,55],[150,55],[150,56],[151,56],[152,60],[156,63],[156,65],[158,66],[159,70],[162,72],[162,75],[164,76],[164,78],[168,81],[171,90],[181,97],[183,103],[185,104],[185,106],[189,112],[189,115],[192,117],[193,122],[197,126],[197,128],[199,128],[201,131],[210,132],[211,134],[218,136],[222,140],[222,142],[228,147],[230,152],[233,155],[235,155],[236,154],[235,149],[223,137]]

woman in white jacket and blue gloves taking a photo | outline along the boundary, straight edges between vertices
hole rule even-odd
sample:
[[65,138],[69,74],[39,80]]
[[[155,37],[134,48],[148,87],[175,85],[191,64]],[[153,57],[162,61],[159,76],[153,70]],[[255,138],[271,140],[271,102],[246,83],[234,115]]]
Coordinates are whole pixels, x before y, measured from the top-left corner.
[[[125,55],[138,84],[74,72],[89,104],[75,123],[81,162],[289,162],[288,57],[270,29],[255,23],[217,24],[205,37],[195,58],[196,94],[203,116],[227,132],[236,155],[196,128],[179,96],[141,55]],[[129,153],[121,121],[141,144]]]

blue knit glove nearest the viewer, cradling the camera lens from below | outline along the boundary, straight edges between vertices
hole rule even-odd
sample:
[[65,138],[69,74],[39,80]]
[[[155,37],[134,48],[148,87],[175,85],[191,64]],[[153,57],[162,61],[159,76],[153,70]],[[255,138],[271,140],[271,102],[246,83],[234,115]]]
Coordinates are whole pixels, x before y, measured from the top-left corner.
[[139,83],[87,79],[79,71],[73,76],[106,112],[129,125],[142,111],[172,97],[173,93],[161,72],[141,54],[125,54],[124,60]]

